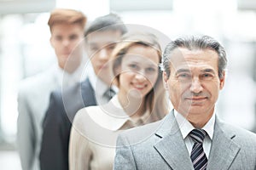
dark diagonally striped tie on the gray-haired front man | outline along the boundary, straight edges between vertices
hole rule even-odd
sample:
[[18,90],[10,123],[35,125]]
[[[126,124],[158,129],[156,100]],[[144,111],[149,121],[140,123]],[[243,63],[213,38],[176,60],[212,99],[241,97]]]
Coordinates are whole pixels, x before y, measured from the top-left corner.
[[207,156],[203,149],[203,140],[206,135],[206,131],[202,129],[194,129],[189,133],[195,142],[190,155],[195,170],[207,169]]

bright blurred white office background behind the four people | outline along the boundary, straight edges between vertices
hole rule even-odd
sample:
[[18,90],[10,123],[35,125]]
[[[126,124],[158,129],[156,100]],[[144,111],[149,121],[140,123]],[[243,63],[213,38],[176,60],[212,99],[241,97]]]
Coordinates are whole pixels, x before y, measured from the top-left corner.
[[184,34],[215,37],[229,59],[218,115],[255,132],[255,0],[0,0],[0,169],[20,170],[17,90],[20,80],[55,62],[47,26],[55,7],[79,9],[89,21],[114,12],[127,24],[150,26],[171,39]]

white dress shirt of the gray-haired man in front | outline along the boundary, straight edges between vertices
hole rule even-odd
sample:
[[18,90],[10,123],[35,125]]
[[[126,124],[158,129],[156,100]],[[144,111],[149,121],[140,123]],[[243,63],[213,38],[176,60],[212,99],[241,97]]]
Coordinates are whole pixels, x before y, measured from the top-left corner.
[[[187,149],[189,151],[189,155],[191,153],[194,141],[189,137],[189,133],[195,129],[193,125],[185,118],[183,115],[178,113],[176,110],[174,110],[174,116],[176,118],[178,127],[183,135],[184,142],[187,146]],[[203,149],[204,152],[207,155],[207,158],[209,158],[211,146],[212,146],[212,137],[213,137],[213,131],[214,131],[214,123],[215,123],[215,112],[212,114],[211,119],[207,122],[207,124],[202,127],[201,129],[204,129],[207,132],[207,136],[203,141]]]

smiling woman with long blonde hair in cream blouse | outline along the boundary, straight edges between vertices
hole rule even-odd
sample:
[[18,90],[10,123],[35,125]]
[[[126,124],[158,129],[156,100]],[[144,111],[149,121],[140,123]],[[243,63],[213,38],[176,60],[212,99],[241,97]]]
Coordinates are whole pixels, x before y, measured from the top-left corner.
[[160,45],[152,34],[125,35],[113,49],[113,83],[107,105],[90,106],[74,118],[69,143],[71,170],[113,169],[118,134],[160,120],[168,113]]

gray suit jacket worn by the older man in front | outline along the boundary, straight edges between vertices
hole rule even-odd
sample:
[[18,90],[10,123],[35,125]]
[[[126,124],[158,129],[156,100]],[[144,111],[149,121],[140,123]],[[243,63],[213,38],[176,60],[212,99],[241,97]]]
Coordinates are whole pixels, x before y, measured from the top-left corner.
[[[193,169],[173,111],[160,122],[119,135],[114,170]],[[216,117],[207,170],[256,169],[256,135]]]

